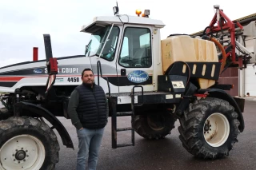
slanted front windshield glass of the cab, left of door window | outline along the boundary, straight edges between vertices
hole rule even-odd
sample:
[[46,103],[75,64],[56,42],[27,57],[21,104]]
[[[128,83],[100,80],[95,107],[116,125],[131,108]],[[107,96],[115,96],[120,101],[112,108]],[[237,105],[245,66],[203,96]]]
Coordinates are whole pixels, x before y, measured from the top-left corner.
[[[99,55],[101,53],[110,29],[111,26],[106,26],[91,35],[90,42],[88,45],[86,45],[86,57]],[[105,58],[106,60],[112,61],[114,59],[114,53],[118,42],[118,34],[118,26],[113,26],[101,55],[101,57]]]

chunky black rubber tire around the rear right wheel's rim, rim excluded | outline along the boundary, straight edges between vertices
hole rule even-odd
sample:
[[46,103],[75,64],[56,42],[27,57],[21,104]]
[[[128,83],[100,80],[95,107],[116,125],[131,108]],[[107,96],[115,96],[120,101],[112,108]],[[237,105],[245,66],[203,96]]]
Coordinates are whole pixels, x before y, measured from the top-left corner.
[[[214,107],[220,107],[231,115],[230,128],[233,130],[231,131],[230,129],[230,132],[233,132],[233,134],[229,136],[228,140],[230,139],[230,144],[226,144],[226,148],[214,149],[206,143],[206,140],[200,140],[200,137],[198,136],[198,129],[202,128],[200,123],[202,123],[206,112]],[[181,125],[178,127],[178,131],[180,132],[179,139],[182,141],[182,146],[186,148],[188,152],[196,157],[204,159],[216,159],[224,155],[229,155],[234,143],[238,142],[237,136],[239,133],[239,121],[237,119],[238,113],[234,112],[233,106],[222,99],[209,97],[194,101],[194,103],[190,105],[189,109],[186,110],[185,114],[186,116],[184,115],[180,120]]]

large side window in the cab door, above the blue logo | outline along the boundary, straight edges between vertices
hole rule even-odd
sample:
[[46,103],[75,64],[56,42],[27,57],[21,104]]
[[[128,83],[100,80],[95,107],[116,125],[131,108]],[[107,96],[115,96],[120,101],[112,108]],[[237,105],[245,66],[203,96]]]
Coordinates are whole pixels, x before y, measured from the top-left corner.
[[152,65],[150,29],[126,27],[119,65],[128,68],[146,68]]

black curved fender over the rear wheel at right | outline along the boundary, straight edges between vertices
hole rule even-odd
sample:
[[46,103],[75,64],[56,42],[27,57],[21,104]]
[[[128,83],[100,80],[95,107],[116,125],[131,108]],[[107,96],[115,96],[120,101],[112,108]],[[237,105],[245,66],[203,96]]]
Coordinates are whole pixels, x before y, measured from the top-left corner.
[[242,117],[242,112],[244,111],[245,99],[231,97],[229,93],[222,89],[200,89],[199,93],[208,92],[208,97],[215,97],[219,99],[223,99],[228,101],[230,105],[234,107],[234,111],[238,113],[238,121],[240,121],[240,125],[238,126],[240,132],[243,132],[245,128],[245,122]]

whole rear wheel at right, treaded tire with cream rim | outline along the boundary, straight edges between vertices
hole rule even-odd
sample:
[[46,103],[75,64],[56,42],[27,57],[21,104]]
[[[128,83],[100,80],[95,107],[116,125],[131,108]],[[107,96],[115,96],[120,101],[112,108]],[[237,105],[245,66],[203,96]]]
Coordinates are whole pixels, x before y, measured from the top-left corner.
[[178,127],[182,145],[198,158],[228,156],[238,142],[238,113],[229,102],[218,98],[195,101],[186,110]]

